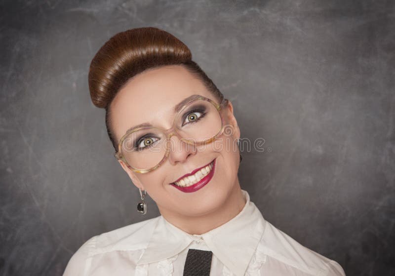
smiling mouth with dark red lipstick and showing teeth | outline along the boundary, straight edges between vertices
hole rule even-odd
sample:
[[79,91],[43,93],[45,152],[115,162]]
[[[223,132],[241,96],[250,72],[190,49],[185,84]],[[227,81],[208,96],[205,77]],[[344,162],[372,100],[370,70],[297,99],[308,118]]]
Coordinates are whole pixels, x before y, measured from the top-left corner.
[[184,193],[196,192],[197,190],[203,188],[213,177],[215,161],[216,159],[212,160],[207,165],[193,170],[192,173],[188,173],[180,177],[177,179],[177,181],[171,183],[170,185]]

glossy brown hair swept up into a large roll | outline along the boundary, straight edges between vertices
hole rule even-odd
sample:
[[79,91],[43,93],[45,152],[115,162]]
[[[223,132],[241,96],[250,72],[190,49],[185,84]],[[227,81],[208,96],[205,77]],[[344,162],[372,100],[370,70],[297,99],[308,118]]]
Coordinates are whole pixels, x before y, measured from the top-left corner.
[[166,65],[184,66],[199,78],[220,102],[223,94],[192,61],[190,49],[173,35],[154,27],[130,29],[109,39],[89,67],[88,83],[93,104],[106,110],[107,133],[118,152],[110,121],[110,104],[122,86],[137,74]]

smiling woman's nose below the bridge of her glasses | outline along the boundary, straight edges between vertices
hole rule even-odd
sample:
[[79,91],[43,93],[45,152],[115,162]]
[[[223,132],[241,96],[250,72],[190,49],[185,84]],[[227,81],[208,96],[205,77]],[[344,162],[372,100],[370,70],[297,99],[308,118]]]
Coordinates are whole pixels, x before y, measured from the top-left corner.
[[169,139],[169,156],[170,164],[175,165],[178,162],[185,162],[188,158],[196,154],[196,146],[180,139],[177,135],[172,135]]

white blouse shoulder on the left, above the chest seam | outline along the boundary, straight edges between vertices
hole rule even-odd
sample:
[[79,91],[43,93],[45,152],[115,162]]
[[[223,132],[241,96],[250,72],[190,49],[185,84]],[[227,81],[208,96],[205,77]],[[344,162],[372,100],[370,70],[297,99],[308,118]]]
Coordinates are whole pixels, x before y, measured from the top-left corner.
[[94,256],[112,251],[145,249],[159,217],[130,224],[89,238],[69,260],[63,276],[82,276]]

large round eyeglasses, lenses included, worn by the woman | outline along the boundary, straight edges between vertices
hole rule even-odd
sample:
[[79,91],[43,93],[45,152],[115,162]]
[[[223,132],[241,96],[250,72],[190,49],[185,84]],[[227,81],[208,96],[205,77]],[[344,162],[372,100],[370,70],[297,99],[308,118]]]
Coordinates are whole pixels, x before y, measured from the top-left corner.
[[138,173],[158,168],[169,156],[170,137],[177,135],[181,142],[201,146],[213,142],[224,131],[222,110],[228,104],[220,104],[198,96],[187,102],[174,118],[172,127],[141,126],[127,131],[118,143],[117,159]]

